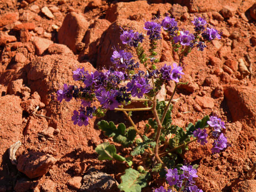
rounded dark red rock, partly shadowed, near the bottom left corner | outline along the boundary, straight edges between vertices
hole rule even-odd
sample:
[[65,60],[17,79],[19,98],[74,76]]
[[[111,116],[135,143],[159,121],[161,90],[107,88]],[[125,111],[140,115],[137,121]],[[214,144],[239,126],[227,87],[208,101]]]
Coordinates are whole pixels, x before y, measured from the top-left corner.
[[30,151],[19,157],[17,169],[33,179],[45,175],[56,161],[57,159],[45,153]]

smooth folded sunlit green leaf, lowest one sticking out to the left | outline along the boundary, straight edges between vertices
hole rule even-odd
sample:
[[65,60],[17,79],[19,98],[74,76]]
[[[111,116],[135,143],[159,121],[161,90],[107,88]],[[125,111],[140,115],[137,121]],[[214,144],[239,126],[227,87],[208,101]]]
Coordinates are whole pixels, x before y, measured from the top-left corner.
[[99,154],[99,160],[117,160],[124,162],[125,158],[116,154],[116,148],[114,145],[109,145],[109,142],[104,142],[95,148],[95,151]]

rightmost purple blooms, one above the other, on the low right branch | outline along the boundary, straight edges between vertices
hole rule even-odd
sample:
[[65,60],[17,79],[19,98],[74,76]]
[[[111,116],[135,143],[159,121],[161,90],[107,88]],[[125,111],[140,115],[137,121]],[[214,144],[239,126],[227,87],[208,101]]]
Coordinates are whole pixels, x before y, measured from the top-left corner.
[[211,116],[207,121],[208,125],[213,128],[212,136],[215,139],[213,142],[212,153],[219,153],[221,150],[227,148],[227,138],[222,133],[223,129],[226,129],[225,123],[216,116]]

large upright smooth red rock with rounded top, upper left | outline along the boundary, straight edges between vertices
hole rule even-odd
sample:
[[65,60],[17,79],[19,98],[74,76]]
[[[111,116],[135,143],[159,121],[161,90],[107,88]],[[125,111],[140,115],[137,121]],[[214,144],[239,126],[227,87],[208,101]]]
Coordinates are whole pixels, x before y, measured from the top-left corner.
[[82,39],[89,27],[89,22],[81,14],[70,12],[66,15],[58,32],[59,43],[68,46],[76,53],[76,44]]

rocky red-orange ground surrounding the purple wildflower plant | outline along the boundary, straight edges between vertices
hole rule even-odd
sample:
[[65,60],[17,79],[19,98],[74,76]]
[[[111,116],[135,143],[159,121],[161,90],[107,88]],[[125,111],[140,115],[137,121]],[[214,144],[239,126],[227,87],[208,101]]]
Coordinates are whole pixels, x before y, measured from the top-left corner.
[[[97,160],[94,149],[107,140],[96,126],[99,119],[74,126],[70,117],[79,103],[52,98],[63,83],[74,83],[76,67],[94,71],[111,64],[112,46],[121,46],[119,26],[145,33],[145,21],[167,12],[187,29],[204,15],[223,32],[221,40],[184,60],[183,81],[189,84],[174,97],[173,123],[185,127],[216,114],[227,121],[231,146],[216,157],[210,145],[193,144],[183,158],[199,165],[197,185],[204,192],[256,191],[255,176],[247,180],[256,162],[255,0],[0,0],[0,192],[90,191],[102,176],[111,186],[93,190],[117,191],[127,167]],[[165,33],[160,45],[160,64],[177,61]],[[173,86],[165,85],[163,96],[170,97]],[[146,118],[133,116],[142,131]],[[119,113],[108,112],[105,119],[129,125]],[[8,149],[18,140],[22,145],[11,163]],[[162,183],[156,179],[144,191]]]

